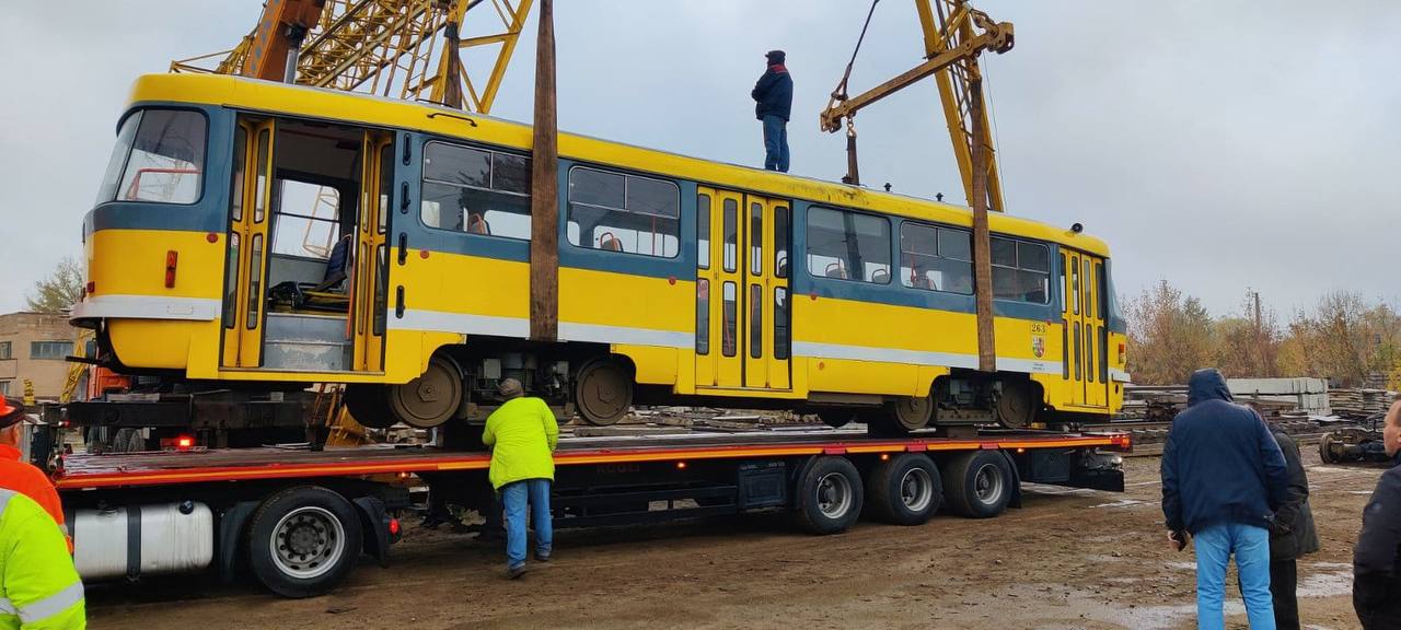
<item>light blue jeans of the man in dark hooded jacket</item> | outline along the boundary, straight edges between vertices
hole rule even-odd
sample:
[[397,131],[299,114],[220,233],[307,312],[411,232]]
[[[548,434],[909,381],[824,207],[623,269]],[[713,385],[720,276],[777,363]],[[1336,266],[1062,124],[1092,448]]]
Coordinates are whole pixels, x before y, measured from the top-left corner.
[[1223,629],[1226,616],[1226,563],[1236,554],[1240,596],[1251,630],[1275,630],[1275,606],[1269,595],[1269,529],[1240,524],[1212,525],[1196,532],[1196,627]]

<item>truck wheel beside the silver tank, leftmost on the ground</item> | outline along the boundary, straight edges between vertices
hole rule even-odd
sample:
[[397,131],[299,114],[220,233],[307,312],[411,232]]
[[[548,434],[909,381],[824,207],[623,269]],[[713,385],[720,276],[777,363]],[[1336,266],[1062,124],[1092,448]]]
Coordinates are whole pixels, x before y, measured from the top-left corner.
[[319,486],[273,494],[248,526],[248,566],[269,591],[286,598],[331,591],[363,549],[354,505]]

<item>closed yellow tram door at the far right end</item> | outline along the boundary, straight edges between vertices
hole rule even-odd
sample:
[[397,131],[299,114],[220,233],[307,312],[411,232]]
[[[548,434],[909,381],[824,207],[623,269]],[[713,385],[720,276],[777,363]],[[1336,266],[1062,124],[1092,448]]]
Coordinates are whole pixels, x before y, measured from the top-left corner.
[[1104,260],[1073,251],[1061,252],[1065,309],[1063,372],[1070,379],[1070,402],[1084,407],[1108,405],[1108,332],[1104,325]]

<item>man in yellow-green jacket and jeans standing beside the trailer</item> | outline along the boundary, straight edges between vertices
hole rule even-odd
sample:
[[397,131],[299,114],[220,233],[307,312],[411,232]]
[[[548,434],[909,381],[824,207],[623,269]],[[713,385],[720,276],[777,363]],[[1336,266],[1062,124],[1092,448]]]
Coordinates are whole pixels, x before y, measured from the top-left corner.
[[525,396],[521,382],[503,379],[497,392],[506,402],[486,419],[482,442],[492,449],[492,487],[506,507],[506,577],[525,573],[525,504],[535,517],[535,560],[549,561],[553,531],[549,484],[555,480],[559,421],[549,405]]

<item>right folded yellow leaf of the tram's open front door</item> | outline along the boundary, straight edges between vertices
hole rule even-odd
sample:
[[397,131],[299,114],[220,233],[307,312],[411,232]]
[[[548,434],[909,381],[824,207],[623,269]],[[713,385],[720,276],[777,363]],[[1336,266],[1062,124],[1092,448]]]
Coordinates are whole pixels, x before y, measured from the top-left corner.
[[361,146],[360,214],[356,217],[354,370],[384,370],[384,326],[389,284],[389,196],[394,193],[394,136],[366,132]]

